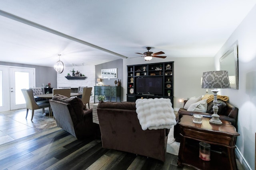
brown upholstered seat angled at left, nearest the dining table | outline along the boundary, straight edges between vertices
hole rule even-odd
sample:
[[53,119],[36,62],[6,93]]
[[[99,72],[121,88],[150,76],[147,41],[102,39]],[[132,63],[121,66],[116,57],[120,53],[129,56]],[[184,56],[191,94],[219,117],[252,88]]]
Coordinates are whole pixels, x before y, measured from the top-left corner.
[[80,98],[60,94],[49,100],[58,127],[79,140],[96,137],[98,125],[92,122],[92,109],[87,109]]

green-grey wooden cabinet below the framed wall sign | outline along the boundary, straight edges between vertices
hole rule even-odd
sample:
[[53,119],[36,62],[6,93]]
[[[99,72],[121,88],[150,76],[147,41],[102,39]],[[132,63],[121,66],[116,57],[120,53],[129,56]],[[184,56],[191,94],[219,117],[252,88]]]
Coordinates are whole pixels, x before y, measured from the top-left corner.
[[94,103],[95,96],[100,95],[106,96],[110,102],[112,102],[112,98],[115,98],[117,102],[117,98],[119,97],[119,101],[121,102],[121,86],[94,86]]

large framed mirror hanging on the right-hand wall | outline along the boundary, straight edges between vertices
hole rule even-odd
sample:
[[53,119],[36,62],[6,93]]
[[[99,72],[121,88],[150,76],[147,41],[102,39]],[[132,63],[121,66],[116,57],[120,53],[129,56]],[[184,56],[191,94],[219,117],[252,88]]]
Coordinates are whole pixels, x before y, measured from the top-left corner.
[[230,88],[238,89],[238,51],[233,45],[221,58],[220,70],[227,70]]

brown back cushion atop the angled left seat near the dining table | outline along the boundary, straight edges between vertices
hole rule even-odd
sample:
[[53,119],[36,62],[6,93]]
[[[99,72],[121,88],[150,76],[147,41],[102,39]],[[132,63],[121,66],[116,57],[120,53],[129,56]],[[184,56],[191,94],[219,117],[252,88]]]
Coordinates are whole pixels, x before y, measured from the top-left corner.
[[80,98],[68,98],[66,96],[62,96],[60,94],[56,94],[52,97],[52,100],[56,100],[59,102],[64,102],[68,105],[68,109],[70,112],[70,116],[72,118],[72,121],[74,123],[74,127],[76,127],[76,124],[82,120],[82,117],[84,115],[84,104]]

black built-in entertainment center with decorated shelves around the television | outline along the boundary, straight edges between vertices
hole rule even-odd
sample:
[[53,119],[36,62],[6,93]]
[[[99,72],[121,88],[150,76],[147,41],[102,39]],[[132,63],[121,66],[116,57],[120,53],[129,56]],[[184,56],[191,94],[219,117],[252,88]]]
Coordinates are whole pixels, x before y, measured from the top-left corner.
[[[127,66],[127,102],[138,98],[169,98],[173,107],[174,62],[137,64]],[[137,92],[137,78],[162,77],[162,94],[142,94]],[[170,94],[168,95],[168,91]]]

